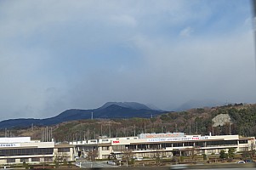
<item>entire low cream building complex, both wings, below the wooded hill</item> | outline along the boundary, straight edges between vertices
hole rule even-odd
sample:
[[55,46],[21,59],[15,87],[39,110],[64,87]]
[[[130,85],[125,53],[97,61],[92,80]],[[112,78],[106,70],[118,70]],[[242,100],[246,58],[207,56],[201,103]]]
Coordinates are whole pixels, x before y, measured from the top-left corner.
[[185,133],[142,133],[134,137],[90,139],[55,144],[30,137],[0,138],[0,164],[74,161],[76,156],[89,159],[127,157],[172,157],[219,154],[255,150],[254,137],[239,135],[202,136]]

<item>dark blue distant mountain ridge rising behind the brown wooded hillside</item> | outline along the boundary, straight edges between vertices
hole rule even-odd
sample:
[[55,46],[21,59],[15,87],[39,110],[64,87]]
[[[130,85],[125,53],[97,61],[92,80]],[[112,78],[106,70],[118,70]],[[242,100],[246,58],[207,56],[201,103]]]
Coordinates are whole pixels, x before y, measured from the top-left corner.
[[167,111],[152,110],[146,105],[136,102],[108,102],[98,109],[78,110],[71,109],[60,113],[57,116],[46,119],[9,119],[0,122],[0,129],[15,127],[51,126],[61,122],[70,122],[82,119],[114,119],[114,118],[132,118],[132,117],[151,117],[157,116]]

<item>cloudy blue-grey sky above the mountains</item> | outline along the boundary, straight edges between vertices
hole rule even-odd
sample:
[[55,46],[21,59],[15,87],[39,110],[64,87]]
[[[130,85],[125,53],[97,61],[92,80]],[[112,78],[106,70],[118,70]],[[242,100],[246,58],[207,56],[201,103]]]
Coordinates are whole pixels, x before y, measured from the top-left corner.
[[249,0],[0,1],[0,121],[131,101],[256,103]]

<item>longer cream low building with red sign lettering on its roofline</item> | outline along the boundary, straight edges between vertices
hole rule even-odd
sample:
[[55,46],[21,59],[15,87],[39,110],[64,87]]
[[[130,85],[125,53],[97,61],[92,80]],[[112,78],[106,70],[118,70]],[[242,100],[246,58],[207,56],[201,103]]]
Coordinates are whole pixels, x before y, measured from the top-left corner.
[[134,157],[190,156],[219,154],[220,150],[235,152],[255,149],[254,137],[239,135],[185,135],[184,133],[143,133],[135,137],[91,139],[71,142],[77,156],[90,156],[95,159],[108,159],[111,156],[122,159]]

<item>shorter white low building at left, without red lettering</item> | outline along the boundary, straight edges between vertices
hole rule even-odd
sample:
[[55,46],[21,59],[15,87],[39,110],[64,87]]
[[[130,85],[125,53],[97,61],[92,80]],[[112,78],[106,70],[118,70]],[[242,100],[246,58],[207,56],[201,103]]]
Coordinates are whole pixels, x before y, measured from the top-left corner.
[[73,161],[73,146],[31,140],[31,137],[0,138],[0,164]]

